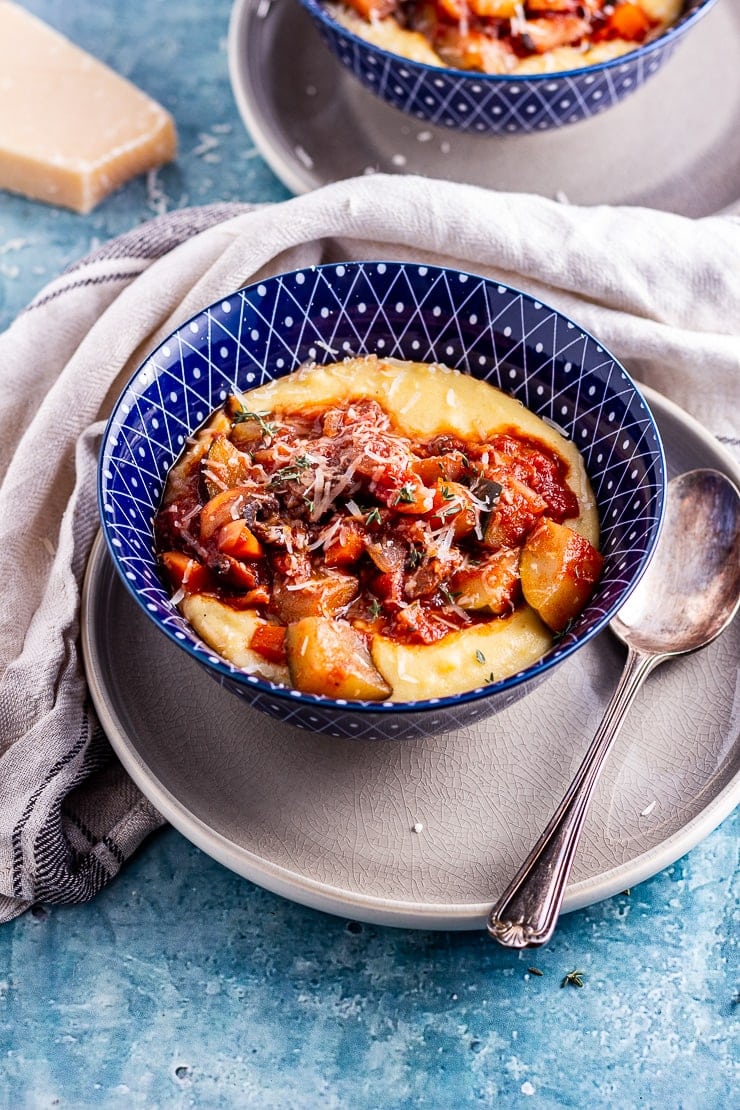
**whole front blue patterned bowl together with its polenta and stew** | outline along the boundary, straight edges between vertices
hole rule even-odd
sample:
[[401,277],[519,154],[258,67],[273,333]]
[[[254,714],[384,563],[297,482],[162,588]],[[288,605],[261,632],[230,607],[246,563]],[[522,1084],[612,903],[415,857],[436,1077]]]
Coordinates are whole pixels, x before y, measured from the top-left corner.
[[[203,310],[132,376],[99,472],[114,565],[162,633],[254,707],[365,739],[494,714],[597,635],[647,565],[663,490],[652,416],[597,340],[506,285],[401,262]],[[533,536],[581,559],[575,615],[534,587],[527,605],[499,566],[516,548],[524,567],[526,544],[531,561]]]

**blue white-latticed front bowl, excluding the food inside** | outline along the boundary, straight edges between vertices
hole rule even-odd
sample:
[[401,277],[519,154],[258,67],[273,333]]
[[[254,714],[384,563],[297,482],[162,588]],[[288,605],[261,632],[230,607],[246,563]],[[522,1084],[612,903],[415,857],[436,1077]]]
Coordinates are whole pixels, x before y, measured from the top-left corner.
[[[586,609],[536,665],[455,697],[346,703],[246,675],[194,635],[158,573],[152,521],[164,478],[209,413],[234,390],[284,376],[308,360],[334,362],[373,352],[445,362],[555,421],[578,445],[598,502],[606,562]],[[364,739],[432,735],[486,717],[591,639],[646,567],[663,491],[662,447],[652,416],[626,371],[595,339],[506,285],[403,262],[298,270],[204,309],[134,373],[108,423],[99,470],[110,553],[158,627],[256,708],[301,728]]]

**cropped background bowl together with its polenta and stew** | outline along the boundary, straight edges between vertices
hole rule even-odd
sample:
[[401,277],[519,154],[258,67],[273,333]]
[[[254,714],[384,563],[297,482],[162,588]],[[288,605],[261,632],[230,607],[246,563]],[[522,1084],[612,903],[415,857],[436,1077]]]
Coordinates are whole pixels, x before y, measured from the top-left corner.
[[472,134],[589,119],[648,81],[714,0],[300,0],[358,81]]

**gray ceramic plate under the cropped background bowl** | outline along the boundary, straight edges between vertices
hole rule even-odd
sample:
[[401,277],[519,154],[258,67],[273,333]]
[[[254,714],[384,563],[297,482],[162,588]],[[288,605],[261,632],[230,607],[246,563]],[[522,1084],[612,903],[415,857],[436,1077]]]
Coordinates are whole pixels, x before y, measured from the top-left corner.
[[418,173],[574,204],[708,215],[740,201],[740,0],[722,0],[642,89],[602,115],[534,135],[432,128],[367,92],[296,0],[236,0],[232,89],[294,192],[362,173]]

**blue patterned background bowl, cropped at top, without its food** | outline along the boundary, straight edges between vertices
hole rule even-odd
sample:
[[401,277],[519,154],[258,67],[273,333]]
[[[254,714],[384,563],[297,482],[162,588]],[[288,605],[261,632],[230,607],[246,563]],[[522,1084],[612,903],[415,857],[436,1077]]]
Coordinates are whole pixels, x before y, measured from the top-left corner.
[[365,88],[419,120],[472,134],[546,131],[604,112],[639,89],[714,0],[687,0],[680,19],[642,47],[584,69],[527,77],[408,61],[342,27],[323,0],[301,0],[332,53]]

